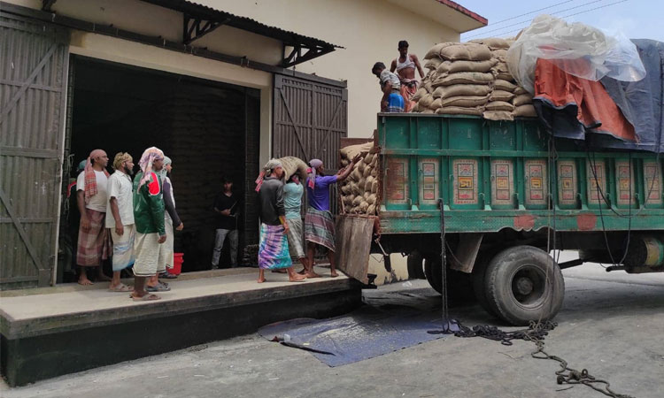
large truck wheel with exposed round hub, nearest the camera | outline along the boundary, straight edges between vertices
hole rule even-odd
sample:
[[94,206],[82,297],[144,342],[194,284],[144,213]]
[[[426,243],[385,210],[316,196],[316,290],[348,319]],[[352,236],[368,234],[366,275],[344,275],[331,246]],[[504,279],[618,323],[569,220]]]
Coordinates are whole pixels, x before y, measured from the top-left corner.
[[565,295],[558,264],[532,246],[498,253],[489,262],[484,279],[490,308],[512,325],[554,318]]

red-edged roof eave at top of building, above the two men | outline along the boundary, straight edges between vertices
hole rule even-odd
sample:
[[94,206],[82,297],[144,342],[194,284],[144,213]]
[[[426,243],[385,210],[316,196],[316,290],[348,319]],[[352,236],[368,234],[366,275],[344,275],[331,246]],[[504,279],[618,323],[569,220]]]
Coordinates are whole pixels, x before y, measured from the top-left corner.
[[[461,33],[486,27],[489,20],[452,0],[388,0],[417,15],[432,19]],[[407,5],[404,5],[407,4]]]

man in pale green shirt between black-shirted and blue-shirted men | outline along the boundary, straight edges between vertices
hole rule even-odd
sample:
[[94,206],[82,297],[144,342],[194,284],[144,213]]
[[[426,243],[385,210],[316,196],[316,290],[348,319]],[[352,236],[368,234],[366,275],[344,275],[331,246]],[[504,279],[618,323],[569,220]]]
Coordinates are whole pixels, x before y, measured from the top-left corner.
[[304,266],[300,274],[306,272],[306,255],[303,243],[305,228],[302,225],[302,195],[305,193],[305,187],[300,183],[297,173],[290,176],[290,179],[283,186],[283,203],[286,208],[286,223],[289,226],[287,233],[289,241],[290,256],[296,257]]

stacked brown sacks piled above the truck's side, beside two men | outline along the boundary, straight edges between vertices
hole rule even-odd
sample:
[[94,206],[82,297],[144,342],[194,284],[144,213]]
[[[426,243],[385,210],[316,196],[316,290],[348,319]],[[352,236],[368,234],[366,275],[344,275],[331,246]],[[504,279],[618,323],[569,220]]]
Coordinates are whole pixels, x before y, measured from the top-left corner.
[[491,120],[536,117],[532,96],[506,63],[512,40],[441,42],[424,56],[429,73],[413,96],[413,112],[475,115]]

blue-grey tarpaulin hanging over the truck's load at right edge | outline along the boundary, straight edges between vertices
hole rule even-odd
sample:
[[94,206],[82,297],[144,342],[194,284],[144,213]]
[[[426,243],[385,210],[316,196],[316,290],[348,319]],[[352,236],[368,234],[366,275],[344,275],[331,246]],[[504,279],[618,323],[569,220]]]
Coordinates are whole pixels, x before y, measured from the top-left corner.
[[603,148],[641,149],[664,153],[664,42],[633,40],[645,66],[645,79],[601,80],[606,92],[622,114],[634,126],[637,142],[616,142],[607,137],[594,137]]

